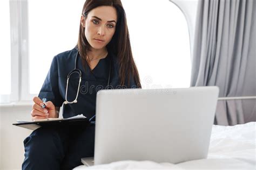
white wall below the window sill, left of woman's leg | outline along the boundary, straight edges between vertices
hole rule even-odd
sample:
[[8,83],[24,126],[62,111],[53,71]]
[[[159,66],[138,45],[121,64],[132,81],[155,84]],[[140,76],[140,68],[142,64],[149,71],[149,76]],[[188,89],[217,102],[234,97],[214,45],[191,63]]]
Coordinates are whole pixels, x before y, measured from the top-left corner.
[[0,169],[21,169],[23,140],[32,132],[12,125],[16,119],[30,119],[31,106],[0,106]]

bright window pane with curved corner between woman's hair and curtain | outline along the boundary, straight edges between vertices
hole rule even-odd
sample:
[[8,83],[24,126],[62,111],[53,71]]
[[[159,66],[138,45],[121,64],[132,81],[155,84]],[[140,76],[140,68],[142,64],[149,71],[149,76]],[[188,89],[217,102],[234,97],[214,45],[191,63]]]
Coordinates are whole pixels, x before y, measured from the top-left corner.
[[190,37],[180,9],[167,0],[122,2],[143,88],[189,87]]

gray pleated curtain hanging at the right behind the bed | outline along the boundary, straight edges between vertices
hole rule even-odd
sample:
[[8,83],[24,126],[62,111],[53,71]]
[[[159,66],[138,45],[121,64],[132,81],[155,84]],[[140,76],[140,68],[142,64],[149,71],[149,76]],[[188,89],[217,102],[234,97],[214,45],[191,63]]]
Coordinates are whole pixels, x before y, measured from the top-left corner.
[[[199,0],[191,86],[219,97],[256,96],[255,0]],[[218,101],[214,124],[256,121],[255,99]]]

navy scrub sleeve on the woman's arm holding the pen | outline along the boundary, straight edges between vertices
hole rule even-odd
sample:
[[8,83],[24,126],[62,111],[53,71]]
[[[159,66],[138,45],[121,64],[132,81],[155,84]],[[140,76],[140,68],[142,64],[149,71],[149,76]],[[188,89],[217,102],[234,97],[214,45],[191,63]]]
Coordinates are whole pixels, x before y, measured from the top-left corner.
[[64,100],[59,93],[58,82],[58,62],[56,56],[51,62],[50,70],[44,80],[43,87],[38,95],[39,98],[46,98],[47,101],[51,101],[55,107],[61,107]]

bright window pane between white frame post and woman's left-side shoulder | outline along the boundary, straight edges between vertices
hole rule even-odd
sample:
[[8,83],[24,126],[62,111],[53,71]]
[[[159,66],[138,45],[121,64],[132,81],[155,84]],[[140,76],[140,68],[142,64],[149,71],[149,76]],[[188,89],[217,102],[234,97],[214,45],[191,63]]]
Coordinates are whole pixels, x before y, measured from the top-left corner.
[[38,94],[53,56],[77,44],[83,4],[84,0],[28,1],[30,94]]

